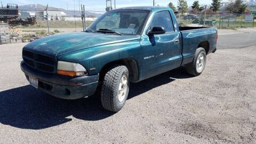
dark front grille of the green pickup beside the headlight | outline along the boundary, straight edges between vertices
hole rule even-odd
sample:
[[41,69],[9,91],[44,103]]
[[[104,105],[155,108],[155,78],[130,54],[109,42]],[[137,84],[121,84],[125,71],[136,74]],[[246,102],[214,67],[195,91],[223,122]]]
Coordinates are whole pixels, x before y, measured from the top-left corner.
[[25,63],[39,71],[46,73],[55,73],[55,61],[51,57],[30,51],[22,51],[22,57]]

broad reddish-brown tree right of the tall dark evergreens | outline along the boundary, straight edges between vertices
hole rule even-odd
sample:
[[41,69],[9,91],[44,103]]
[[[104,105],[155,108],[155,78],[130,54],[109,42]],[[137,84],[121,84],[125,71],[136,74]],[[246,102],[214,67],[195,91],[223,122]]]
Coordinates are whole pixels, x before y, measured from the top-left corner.
[[231,2],[230,4],[228,4],[228,6],[226,7],[226,10],[229,13],[242,14],[246,10],[246,5],[243,4],[242,0],[236,0],[235,2]]

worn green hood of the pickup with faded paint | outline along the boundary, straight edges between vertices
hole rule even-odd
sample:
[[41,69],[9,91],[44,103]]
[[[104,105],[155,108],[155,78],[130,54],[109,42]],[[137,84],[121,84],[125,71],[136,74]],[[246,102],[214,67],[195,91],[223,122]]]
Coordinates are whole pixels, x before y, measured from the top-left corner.
[[38,52],[46,55],[62,55],[90,47],[133,41],[140,36],[119,36],[101,33],[66,33],[40,38],[27,44],[23,50]]

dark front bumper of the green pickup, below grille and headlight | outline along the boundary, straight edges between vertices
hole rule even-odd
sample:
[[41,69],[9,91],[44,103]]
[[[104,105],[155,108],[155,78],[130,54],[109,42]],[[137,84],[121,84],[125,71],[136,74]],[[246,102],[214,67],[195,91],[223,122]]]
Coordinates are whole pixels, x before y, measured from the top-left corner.
[[69,77],[46,74],[30,68],[25,62],[20,63],[26,78],[38,78],[38,89],[61,99],[79,99],[93,95],[98,87],[99,74],[83,77]]

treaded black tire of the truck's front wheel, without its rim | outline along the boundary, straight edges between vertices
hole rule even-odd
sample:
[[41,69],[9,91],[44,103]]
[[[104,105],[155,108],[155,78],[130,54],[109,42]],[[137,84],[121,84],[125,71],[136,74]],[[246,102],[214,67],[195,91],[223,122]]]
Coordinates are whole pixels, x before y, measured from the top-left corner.
[[[118,89],[119,84],[121,83],[121,78],[123,78],[124,76],[127,77],[126,93],[123,96],[124,99],[122,101],[119,101]],[[125,105],[125,101],[129,93],[129,87],[129,71],[126,66],[115,65],[111,67],[107,71],[101,87],[102,107],[106,110],[115,112],[121,110]]]

